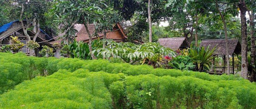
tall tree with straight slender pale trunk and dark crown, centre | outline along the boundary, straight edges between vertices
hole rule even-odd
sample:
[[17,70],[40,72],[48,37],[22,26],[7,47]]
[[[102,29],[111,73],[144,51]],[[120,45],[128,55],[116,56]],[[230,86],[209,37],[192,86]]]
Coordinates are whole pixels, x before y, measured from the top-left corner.
[[[132,27],[143,27],[140,30],[144,31],[136,31],[135,29],[131,30],[133,35],[141,35],[143,32],[149,31],[149,36],[152,36],[152,24],[159,24],[160,21],[166,21],[172,16],[172,8],[165,8],[167,0],[117,0],[119,5],[117,5],[116,9],[119,10],[120,15],[124,17],[125,20],[137,19],[134,17],[138,17],[138,24],[135,23],[135,26]],[[146,18],[146,20],[144,20]],[[142,21],[146,22],[143,23]],[[144,26],[142,26],[142,24]],[[145,27],[147,26],[147,28]],[[135,31],[134,31],[135,30]],[[129,36],[130,37],[130,36]],[[140,36],[131,36],[131,37],[140,37]],[[152,38],[148,38],[151,40]]]

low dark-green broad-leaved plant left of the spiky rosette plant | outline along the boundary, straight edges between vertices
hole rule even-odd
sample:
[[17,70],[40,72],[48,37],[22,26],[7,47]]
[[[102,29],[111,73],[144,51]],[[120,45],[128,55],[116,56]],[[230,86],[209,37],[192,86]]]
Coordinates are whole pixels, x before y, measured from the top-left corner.
[[195,65],[189,56],[179,55],[173,57],[173,60],[169,62],[172,68],[180,70],[193,70]]

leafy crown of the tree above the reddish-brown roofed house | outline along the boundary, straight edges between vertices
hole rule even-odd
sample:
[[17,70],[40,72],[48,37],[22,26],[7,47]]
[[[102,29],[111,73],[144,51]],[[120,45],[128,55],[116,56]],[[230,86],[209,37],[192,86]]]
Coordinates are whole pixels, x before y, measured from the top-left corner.
[[50,13],[55,15],[56,22],[64,25],[62,30],[67,30],[66,35],[62,37],[65,44],[73,42],[73,37],[77,33],[72,25],[74,22],[84,25],[94,24],[95,32],[91,35],[97,36],[102,30],[112,30],[115,23],[120,21],[113,2],[109,0],[56,0],[55,2]]

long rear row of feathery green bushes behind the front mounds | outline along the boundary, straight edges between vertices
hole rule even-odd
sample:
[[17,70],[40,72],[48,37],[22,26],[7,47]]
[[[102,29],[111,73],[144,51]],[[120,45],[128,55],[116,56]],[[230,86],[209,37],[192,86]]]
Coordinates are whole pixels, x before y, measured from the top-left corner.
[[[153,74],[156,76],[165,76],[170,75],[173,77],[178,76],[193,76],[205,80],[240,80],[241,78],[236,75],[209,75],[206,73],[199,72],[189,72],[189,71],[179,71],[176,69],[154,69],[152,66],[148,65],[130,65],[128,63],[112,63],[108,60],[80,60],[72,58],[61,58],[56,59],[53,57],[50,58],[38,58],[38,57],[27,57],[23,53],[0,53],[0,62],[5,65],[4,67],[9,67],[7,63],[15,63],[13,65],[18,65],[17,71],[21,72],[23,75],[16,75],[18,78],[23,78],[23,80],[29,80],[35,76],[42,75],[52,75],[54,72],[57,72],[59,69],[66,69],[70,72],[73,72],[79,68],[88,69],[91,72],[104,71],[107,73],[124,73],[126,75],[141,75],[141,74]],[[12,68],[13,66],[10,66]],[[8,69],[10,69],[8,68]],[[1,70],[3,72],[3,69]],[[11,71],[14,72],[14,71]],[[10,72],[10,73],[11,73]],[[15,71],[16,72],[16,71]],[[15,77],[15,78],[17,78]],[[14,77],[9,77],[14,78]],[[8,79],[9,80],[9,79]],[[8,82],[7,79],[3,79],[3,83]],[[14,85],[21,83],[22,81],[16,81],[15,84],[10,85],[9,88],[6,85],[4,89],[0,89],[3,93],[8,89],[12,89]]]

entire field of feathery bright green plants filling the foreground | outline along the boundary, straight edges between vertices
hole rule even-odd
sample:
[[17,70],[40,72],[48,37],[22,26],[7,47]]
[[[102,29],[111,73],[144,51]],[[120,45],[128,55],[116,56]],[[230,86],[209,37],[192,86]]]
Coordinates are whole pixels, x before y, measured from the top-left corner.
[[19,53],[0,53],[0,94],[0,109],[256,108],[256,84],[236,75]]

